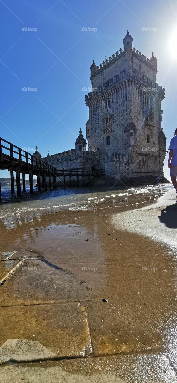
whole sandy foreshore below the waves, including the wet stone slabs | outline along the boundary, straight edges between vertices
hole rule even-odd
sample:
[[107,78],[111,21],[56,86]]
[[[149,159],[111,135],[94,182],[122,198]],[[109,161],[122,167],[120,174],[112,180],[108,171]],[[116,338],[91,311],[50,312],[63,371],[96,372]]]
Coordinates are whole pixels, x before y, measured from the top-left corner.
[[176,381],[175,191],[130,190],[1,206],[3,380]]

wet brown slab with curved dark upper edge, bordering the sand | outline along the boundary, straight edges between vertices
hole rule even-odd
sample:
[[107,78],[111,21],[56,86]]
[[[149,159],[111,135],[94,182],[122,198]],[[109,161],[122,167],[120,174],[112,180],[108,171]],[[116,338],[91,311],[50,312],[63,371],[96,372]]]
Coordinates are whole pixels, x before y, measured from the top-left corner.
[[87,283],[66,270],[45,259],[26,259],[1,287],[0,306],[85,301],[91,294]]

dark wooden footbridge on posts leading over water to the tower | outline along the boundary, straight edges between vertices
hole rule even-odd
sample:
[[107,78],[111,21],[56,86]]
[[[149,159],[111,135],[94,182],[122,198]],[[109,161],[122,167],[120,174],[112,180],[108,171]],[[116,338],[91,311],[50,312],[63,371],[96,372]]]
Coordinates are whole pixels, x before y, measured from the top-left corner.
[[[9,170],[11,179],[11,192],[15,193],[14,184],[14,171],[16,173],[16,193],[17,196],[21,195],[20,173],[22,173],[23,191],[26,191],[25,174],[29,174],[29,190],[33,193],[33,175],[37,176],[38,191],[41,191],[41,177],[42,187],[47,190],[47,177],[49,180],[49,190],[51,188],[56,189],[56,177],[64,177],[64,187],[66,187],[66,177],[69,177],[69,186],[71,187],[72,177],[77,177],[77,186],[79,187],[79,177],[82,177],[82,183],[84,185],[85,177],[88,177],[88,183],[90,176],[102,176],[103,170],[92,170],[82,168],[56,168],[46,162],[43,162],[38,157],[29,154],[25,150],[19,148],[11,142],[6,141],[0,137],[0,170]],[[1,187],[0,187],[1,198]]]

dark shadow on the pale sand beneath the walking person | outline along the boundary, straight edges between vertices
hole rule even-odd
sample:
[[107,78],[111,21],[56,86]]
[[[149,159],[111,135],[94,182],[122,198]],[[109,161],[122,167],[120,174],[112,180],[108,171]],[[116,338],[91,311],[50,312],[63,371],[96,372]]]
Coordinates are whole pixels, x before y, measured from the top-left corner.
[[177,228],[177,203],[169,205],[165,209],[162,209],[161,215],[159,216],[161,223],[164,223],[167,228]]

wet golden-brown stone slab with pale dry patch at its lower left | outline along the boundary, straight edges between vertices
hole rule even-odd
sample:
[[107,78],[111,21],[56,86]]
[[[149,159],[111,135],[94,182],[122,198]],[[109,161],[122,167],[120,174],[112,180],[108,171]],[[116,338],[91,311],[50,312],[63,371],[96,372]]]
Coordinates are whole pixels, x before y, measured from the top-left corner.
[[0,363],[79,357],[92,351],[78,303],[0,308]]

